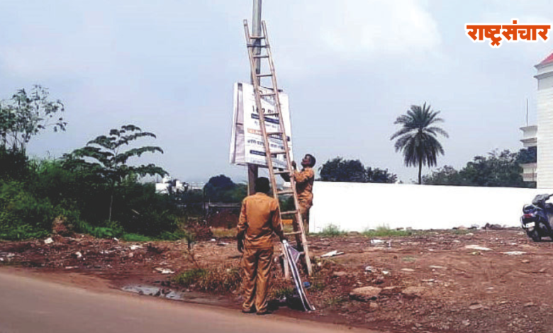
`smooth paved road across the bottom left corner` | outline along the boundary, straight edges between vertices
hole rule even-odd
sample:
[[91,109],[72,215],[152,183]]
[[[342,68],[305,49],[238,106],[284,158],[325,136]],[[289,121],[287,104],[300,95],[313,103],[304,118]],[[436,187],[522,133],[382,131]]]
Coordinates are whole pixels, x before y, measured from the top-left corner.
[[0,333],[327,333],[347,327],[236,310],[98,293],[0,271]]

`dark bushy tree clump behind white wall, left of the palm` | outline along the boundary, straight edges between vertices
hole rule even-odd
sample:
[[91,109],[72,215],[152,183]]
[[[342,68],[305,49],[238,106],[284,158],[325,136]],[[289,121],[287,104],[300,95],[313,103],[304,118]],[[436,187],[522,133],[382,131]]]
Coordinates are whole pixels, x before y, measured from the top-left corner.
[[359,159],[343,159],[335,157],[329,159],[319,168],[320,180],[342,181],[350,183],[395,183],[396,174],[391,174],[388,169],[372,168],[363,165]]

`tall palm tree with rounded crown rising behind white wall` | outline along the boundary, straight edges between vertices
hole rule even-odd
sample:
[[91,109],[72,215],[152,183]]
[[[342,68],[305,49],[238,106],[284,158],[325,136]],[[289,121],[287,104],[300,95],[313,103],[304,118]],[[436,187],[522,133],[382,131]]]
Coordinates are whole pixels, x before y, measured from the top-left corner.
[[442,144],[437,140],[441,134],[449,137],[442,128],[435,126],[435,123],[442,123],[442,118],[437,118],[440,111],[434,112],[430,105],[411,106],[407,114],[400,115],[394,124],[400,124],[401,130],[393,133],[390,140],[396,139],[396,152],[403,152],[406,166],[418,165],[418,184],[422,182],[421,172],[423,164],[435,166],[438,154],[444,154]]

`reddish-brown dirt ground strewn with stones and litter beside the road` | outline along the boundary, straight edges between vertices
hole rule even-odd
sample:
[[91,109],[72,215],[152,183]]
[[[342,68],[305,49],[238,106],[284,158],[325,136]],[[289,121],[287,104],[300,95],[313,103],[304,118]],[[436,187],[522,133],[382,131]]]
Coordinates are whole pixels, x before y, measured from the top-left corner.
[[[315,274],[308,297],[317,310],[276,313],[385,332],[552,332],[553,243],[522,230],[443,230],[408,237],[308,237]],[[0,265],[41,273],[101,277],[111,288],[141,284],[189,293],[188,301],[240,307],[240,290],[200,294],[171,283],[194,267],[237,267],[232,239],[119,242],[86,235],[0,242]],[[275,256],[279,248],[275,247]],[[339,256],[319,258],[337,250]],[[273,295],[291,287],[274,265]],[[83,281],[86,281],[84,279]],[[357,295],[355,288],[372,295]],[[379,289],[376,289],[379,288]],[[158,293],[159,294],[159,293]],[[276,303],[275,303],[276,304]],[[237,313],[238,310],[237,310]],[[240,314],[242,315],[242,314]]]

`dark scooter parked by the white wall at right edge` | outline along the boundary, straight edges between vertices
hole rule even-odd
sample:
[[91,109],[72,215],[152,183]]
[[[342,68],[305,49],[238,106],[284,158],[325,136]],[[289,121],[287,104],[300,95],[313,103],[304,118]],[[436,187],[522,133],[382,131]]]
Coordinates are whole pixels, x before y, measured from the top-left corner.
[[523,216],[520,223],[526,231],[526,235],[534,242],[540,242],[542,237],[553,240],[553,230],[550,221],[553,222],[553,204],[546,203],[553,194],[538,194],[532,205],[524,205]]

